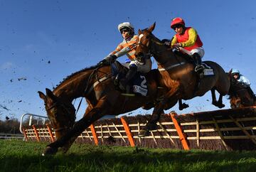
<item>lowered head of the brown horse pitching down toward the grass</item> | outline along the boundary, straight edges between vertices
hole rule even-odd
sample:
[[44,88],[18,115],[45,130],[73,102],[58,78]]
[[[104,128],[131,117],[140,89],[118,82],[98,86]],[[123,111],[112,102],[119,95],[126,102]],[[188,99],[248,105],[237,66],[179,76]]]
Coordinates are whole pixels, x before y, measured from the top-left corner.
[[69,100],[63,100],[61,97],[55,96],[48,88],[46,88],[46,95],[43,92],[38,92],[38,94],[44,101],[48,118],[58,139],[73,127],[75,107]]

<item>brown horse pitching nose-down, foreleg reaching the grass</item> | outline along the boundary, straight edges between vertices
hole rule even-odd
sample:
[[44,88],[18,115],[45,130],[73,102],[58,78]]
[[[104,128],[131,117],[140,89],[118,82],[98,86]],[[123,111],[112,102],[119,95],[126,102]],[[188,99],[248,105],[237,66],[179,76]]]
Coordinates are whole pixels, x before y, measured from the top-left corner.
[[[45,103],[57,139],[47,146],[43,155],[55,154],[59,147],[64,152],[68,151],[82,131],[105,115],[131,112],[144,104],[152,104],[161,95],[157,88],[159,72],[151,70],[145,77],[149,91],[147,96],[127,97],[116,90],[110,65],[96,65],[80,70],[63,80],[53,92],[49,89],[46,89],[46,95],[38,92]],[[72,101],[77,97],[86,98],[87,109],[82,119],[75,122]]]

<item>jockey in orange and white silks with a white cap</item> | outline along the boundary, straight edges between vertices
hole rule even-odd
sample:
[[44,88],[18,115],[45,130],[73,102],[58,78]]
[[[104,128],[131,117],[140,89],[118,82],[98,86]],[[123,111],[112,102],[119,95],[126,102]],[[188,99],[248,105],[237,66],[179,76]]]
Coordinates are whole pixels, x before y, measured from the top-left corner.
[[135,57],[135,48],[139,41],[139,36],[134,34],[134,26],[129,22],[120,23],[118,25],[118,31],[122,34],[123,41],[117,45],[117,48],[107,55],[105,60],[111,64],[122,55],[127,55],[129,58],[129,71],[127,75],[119,81],[119,87],[121,90],[129,90],[128,82],[132,80],[136,72],[146,73],[151,70],[151,59],[137,60]]

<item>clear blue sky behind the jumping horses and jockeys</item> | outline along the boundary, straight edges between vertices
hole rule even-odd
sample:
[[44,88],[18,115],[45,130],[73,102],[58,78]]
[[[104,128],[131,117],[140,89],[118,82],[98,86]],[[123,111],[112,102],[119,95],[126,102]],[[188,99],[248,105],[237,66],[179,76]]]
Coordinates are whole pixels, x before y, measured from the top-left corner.
[[[171,18],[182,17],[203,41],[203,60],[213,60],[227,72],[240,70],[256,92],[255,6],[254,0],[0,0],[0,119],[20,119],[26,113],[46,116],[37,92],[52,90],[66,76],[105,58],[122,41],[117,26],[125,21],[134,25],[136,33],[156,22],[153,33],[164,39],[174,36]],[[223,101],[229,108],[227,97]],[[190,107],[182,112],[177,105],[165,112],[218,109],[211,104],[210,92],[186,103]],[[77,119],[86,106],[83,100]],[[137,109],[125,115],[151,111]]]

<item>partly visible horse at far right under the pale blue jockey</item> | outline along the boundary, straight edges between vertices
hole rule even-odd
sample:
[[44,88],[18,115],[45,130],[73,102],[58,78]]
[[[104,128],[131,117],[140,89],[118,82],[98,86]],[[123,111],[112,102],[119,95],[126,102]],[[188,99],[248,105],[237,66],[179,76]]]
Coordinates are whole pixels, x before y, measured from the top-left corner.
[[248,92],[245,85],[235,80],[233,75],[231,75],[231,70],[228,72],[228,77],[230,77],[230,89],[228,91],[230,107],[234,109],[238,107],[256,106],[254,97]]

